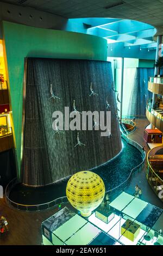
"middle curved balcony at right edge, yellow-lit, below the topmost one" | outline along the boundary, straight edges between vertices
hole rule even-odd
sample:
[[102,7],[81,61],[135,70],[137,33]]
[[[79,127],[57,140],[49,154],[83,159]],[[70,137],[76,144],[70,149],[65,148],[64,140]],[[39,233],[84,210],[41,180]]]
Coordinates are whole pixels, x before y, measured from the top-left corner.
[[154,109],[152,100],[147,101],[146,117],[150,123],[163,132],[163,109]]

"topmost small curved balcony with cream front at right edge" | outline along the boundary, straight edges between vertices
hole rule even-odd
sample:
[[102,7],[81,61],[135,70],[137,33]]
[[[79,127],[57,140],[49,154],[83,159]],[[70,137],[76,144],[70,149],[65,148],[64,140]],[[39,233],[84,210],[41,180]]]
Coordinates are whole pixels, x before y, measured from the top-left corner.
[[154,94],[163,95],[163,77],[149,77],[148,90]]

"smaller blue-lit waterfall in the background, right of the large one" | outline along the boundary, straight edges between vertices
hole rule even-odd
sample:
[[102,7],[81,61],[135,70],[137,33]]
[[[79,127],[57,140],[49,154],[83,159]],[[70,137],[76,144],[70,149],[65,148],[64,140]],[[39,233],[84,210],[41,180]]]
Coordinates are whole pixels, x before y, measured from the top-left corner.
[[152,97],[152,93],[148,91],[148,78],[153,74],[153,68],[136,68],[128,105],[128,118],[146,117],[146,102]]

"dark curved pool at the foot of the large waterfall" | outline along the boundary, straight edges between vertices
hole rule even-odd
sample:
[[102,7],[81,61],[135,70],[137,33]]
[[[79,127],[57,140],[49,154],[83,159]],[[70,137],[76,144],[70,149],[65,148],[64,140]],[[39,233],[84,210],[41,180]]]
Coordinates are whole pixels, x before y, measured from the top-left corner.
[[[105,190],[110,190],[124,182],[131,169],[142,162],[142,155],[139,150],[129,145],[122,139],[123,148],[120,154],[102,166],[92,169],[104,181]],[[66,196],[66,184],[68,179],[55,182],[45,187],[29,187],[17,184],[12,188],[9,198],[19,204],[43,204]]]

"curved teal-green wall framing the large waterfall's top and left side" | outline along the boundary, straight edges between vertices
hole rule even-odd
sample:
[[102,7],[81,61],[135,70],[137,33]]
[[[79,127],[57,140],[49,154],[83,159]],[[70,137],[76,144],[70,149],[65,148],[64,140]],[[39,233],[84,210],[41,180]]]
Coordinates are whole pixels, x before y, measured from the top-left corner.
[[23,74],[25,57],[107,59],[107,41],[93,35],[2,22],[11,106],[20,169]]

